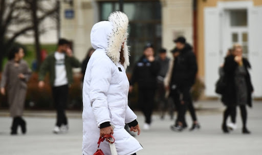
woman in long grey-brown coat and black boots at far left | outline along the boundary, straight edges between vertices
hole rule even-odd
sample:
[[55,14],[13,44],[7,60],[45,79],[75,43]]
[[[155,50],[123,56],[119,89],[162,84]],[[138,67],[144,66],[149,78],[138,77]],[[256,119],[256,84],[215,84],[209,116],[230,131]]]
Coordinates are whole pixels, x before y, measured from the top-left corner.
[[31,70],[27,62],[23,60],[24,56],[22,48],[11,49],[1,80],[1,94],[6,95],[7,93],[10,115],[13,118],[11,135],[17,135],[18,126],[21,127],[23,134],[27,132],[26,121],[22,116]]

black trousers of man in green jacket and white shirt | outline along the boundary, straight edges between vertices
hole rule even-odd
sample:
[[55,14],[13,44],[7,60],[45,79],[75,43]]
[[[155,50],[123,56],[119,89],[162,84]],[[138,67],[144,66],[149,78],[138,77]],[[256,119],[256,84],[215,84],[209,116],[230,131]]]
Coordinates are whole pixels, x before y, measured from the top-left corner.
[[65,108],[67,107],[69,86],[55,86],[52,88],[53,98],[56,108],[56,126],[60,127],[62,124],[67,125],[68,119],[65,116]]

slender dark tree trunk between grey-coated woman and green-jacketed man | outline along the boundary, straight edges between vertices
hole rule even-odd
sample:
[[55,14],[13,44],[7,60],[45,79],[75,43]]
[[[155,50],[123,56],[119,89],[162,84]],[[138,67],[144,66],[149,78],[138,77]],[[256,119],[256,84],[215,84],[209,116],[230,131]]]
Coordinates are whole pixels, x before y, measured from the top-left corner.
[[39,21],[37,18],[37,1],[32,1],[31,3],[31,9],[32,9],[32,17],[33,17],[33,31],[34,31],[34,38],[35,38],[35,52],[36,52],[36,58],[37,58],[37,70],[40,67],[41,64],[41,49],[40,49],[40,41],[39,41]]

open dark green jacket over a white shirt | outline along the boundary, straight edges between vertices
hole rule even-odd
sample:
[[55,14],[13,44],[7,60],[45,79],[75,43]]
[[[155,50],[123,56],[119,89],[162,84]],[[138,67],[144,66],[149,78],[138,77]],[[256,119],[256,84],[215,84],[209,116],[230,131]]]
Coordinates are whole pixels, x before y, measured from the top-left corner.
[[[55,81],[55,54],[50,54],[45,61],[42,62],[38,80],[43,81],[45,79],[46,73],[49,72],[50,84],[54,86]],[[81,66],[80,62],[75,57],[69,57],[65,55],[64,59],[65,70],[67,71],[68,84],[73,83],[73,71],[72,68],[79,68]]]

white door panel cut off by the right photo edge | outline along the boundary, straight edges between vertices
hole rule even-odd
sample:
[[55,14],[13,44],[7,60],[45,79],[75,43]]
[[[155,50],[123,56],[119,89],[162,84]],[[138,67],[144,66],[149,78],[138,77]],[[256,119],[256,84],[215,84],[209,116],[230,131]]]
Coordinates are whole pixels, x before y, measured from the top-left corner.
[[262,7],[254,7],[248,13],[249,61],[254,97],[262,97]]

